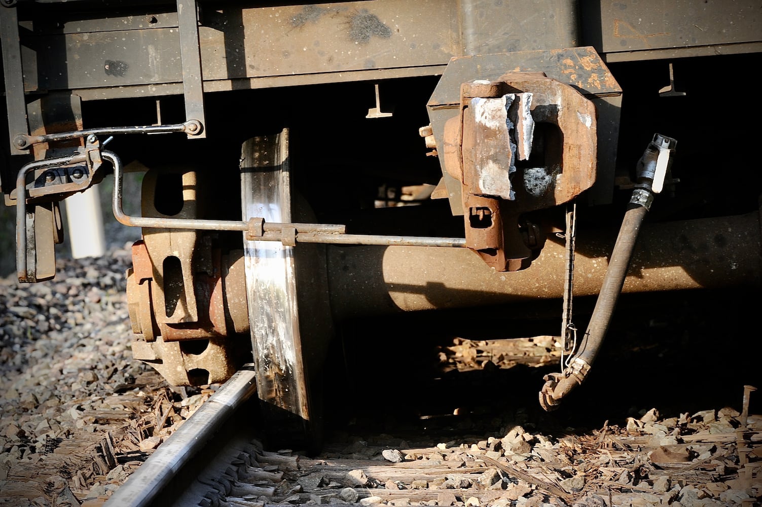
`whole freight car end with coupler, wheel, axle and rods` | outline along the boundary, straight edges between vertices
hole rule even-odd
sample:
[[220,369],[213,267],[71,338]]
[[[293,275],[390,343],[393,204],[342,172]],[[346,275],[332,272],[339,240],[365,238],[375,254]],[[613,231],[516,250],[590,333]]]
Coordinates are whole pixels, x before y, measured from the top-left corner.
[[[622,287],[758,290],[759,106],[718,77],[759,63],[760,14],[3,0],[18,278],[54,276],[59,202],[113,173],[117,220],[142,227],[135,357],[201,385],[253,353],[264,405],[306,426],[342,319],[558,298],[565,334],[571,297],[607,279],[632,188],[629,207],[670,196],[604,303]],[[146,172],[139,206],[123,203],[130,171]]]

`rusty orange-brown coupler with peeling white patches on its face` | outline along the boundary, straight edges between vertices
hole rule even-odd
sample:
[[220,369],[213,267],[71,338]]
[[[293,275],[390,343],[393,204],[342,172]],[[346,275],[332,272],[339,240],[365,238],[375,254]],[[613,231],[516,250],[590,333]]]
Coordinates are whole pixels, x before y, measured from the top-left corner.
[[498,271],[527,268],[536,246],[520,215],[571,201],[595,182],[595,107],[542,72],[509,72],[463,83],[459,111],[445,124],[443,156],[463,185],[466,245]]

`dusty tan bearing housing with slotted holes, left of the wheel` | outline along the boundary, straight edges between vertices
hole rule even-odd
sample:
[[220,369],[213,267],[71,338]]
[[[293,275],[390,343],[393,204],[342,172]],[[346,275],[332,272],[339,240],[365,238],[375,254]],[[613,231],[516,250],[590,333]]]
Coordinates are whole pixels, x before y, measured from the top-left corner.
[[[194,219],[203,198],[198,186],[191,170],[151,170],[143,180],[142,209],[149,217]],[[246,354],[246,342],[235,336],[248,332],[241,264],[240,253],[223,256],[198,231],[145,229],[133,245],[127,278],[133,357],[172,385],[229,378]]]

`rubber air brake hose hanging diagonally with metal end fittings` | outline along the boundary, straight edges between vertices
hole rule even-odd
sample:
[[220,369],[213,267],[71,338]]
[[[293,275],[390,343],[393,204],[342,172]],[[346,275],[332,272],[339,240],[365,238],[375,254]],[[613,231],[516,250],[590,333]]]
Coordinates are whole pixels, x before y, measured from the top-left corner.
[[661,192],[664,186],[676,144],[674,139],[655,134],[638,161],[636,188],[632,191],[619,236],[611,252],[588,329],[584,332],[578,351],[568,361],[568,367],[560,374],[546,375],[546,383],[539,392],[539,404],[543,409],[549,411],[557,408],[563,397],[587,377],[606,337],[616,300],[622,293],[640,227],[651,208],[654,195]]

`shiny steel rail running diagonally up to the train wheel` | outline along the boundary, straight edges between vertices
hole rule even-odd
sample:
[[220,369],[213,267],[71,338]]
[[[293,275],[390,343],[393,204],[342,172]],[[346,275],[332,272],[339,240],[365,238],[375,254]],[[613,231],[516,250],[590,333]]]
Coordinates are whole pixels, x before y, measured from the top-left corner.
[[143,507],[162,492],[178,470],[190,462],[235,410],[257,391],[253,365],[245,364],[223,383],[151,456],[117,489],[105,505]]

